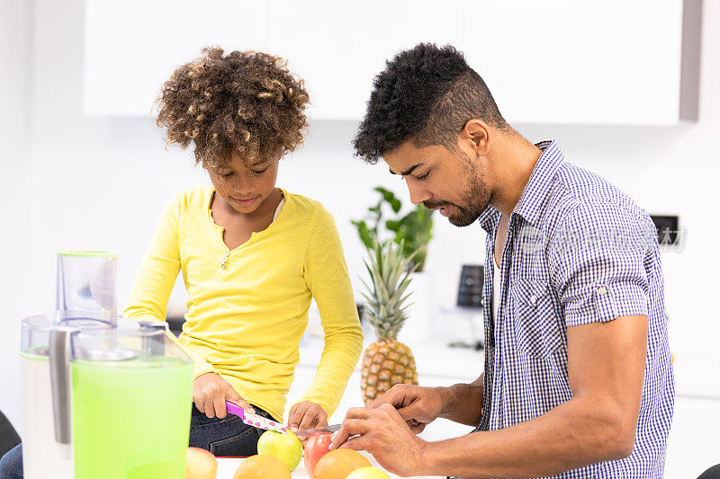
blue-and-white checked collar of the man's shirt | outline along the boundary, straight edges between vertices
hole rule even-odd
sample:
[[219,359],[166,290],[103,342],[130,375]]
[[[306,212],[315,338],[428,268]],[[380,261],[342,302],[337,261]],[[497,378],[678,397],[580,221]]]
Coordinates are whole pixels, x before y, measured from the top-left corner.
[[[540,216],[541,207],[545,198],[550,192],[550,184],[553,182],[555,172],[563,164],[564,155],[555,140],[545,140],[536,143],[536,146],[543,150],[542,155],[537,159],[533,173],[525,185],[523,194],[518,204],[513,209],[520,217],[530,224],[535,224]],[[490,233],[500,221],[500,211],[488,205],[478,222],[482,229]]]

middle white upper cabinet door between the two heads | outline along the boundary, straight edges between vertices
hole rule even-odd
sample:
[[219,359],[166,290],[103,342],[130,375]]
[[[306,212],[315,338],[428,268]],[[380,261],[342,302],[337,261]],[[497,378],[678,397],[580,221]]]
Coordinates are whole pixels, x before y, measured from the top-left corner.
[[267,49],[289,58],[311,93],[310,116],[360,120],[385,60],[420,41],[462,43],[461,0],[290,2],[268,5]]

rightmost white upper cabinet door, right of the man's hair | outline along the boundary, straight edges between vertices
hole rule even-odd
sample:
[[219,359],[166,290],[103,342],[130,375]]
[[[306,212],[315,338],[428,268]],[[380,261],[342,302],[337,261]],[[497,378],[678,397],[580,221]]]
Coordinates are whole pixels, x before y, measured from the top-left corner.
[[469,0],[468,9],[466,58],[510,122],[680,119],[681,0]]

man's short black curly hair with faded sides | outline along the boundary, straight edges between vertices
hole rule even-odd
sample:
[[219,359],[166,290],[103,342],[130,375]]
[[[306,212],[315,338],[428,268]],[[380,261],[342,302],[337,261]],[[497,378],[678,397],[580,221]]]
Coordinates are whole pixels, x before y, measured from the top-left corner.
[[401,51],[373,86],[353,140],[356,156],[367,163],[377,163],[408,140],[455,151],[457,135],[473,119],[510,129],[482,77],[450,45],[420,43]]

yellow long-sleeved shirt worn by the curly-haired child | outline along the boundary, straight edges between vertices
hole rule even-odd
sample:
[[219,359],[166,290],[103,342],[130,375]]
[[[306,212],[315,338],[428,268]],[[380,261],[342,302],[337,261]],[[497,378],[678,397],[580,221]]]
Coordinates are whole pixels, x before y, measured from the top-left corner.
[[283,191],[275,221],[233,250],[211,217],[210,187],[181,191],[157,224],[124,317],[165,321],[179,271],[189,294],[178,342],[194,377],[215,372],[247,402],[282,418],[314,297],[325,347],[300,401],[338,407],[363,347],[333,218],[318,201]]

